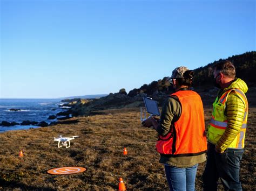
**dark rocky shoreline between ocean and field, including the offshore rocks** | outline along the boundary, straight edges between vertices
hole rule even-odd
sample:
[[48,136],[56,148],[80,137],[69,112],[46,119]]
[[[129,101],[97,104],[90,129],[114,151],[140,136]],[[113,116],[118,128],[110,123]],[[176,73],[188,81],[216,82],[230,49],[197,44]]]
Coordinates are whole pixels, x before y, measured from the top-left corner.
[[[196,89],[197,93],[201,96],[204,105],[211,105],[215,99],[215,95],[217,95],[217,88],[213,89]],[[255,88],[249,89],[250,94],[254,97]],[[158,102],[159,107],[163,105],[166,97],[169,96],[171,93],[164,93],[159,91],[154,91],[152,95],[149,95]],[[109,94],[105,97],[100,97],[96,99],[81,99],[81,98],[74,98],[74,99],[66,99],[62,100],[64,104],[59,105],[59,108],[62,108],[64,111],[58,112],[56,115],[50,115],[48,117],[49,120],[55,120],[51,123],[46,123],[45,121],[42,122],[35,122],[35,121],[23,121],[22,123],[17,122],[7,122],[2,121],[0,126],[14,126],[14,125],[33,125],[33,126],[51,126],[56,125],[58,123],[62,123],[60,121],[69,119],[72,117],[77,116],[92,116],[99,114],[100,110],[106,109],[120,109],[120,108],[139,108],[144,107],[143,97],[147,97],[148,95],[145,93],[138,93],[134,96],[129,96],[126,94],[124,89],[120,89],[119,93]],[[252,102],[251,96],[248,96],[248,101],[250,104],[254,105]],[[19,112],[21,109],[12,108],[10,109],[13,112]]]

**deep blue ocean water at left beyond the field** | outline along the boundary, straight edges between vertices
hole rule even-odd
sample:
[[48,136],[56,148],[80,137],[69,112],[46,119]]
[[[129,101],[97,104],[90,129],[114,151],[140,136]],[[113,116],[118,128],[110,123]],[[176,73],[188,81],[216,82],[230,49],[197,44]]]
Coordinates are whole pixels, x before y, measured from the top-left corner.
[[[50,115],[56,115],[60,111],[66,111],[60,106],[64,103],[57,99],[0,99],[0,123],[23,121],[35,121],[51,123],[57,119],[48,119]],[[18,109],[18,111],[11,111],[10,109]],[[63,117],[63,116],[59,116]],[[14,126],[0,126],[0,133],[10,130],[21,130],[29,128],[37,128],[34,125],[14,125]]]

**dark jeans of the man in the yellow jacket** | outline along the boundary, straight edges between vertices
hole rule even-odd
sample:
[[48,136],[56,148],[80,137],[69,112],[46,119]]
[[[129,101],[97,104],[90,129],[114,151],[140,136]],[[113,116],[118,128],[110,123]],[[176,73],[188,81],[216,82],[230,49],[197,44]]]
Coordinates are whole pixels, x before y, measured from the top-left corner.
[[203,174],[204,190],[217,190],[220,178],[225,190],[242,190],[239,180],[240,161],[244,149],[227,148],[215,152],[215,145],[208,143],[207,162]]

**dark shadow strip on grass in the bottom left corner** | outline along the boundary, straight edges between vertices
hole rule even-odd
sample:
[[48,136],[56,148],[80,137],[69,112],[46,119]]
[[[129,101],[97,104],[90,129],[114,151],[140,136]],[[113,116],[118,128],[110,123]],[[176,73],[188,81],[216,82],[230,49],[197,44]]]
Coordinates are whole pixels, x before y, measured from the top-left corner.
[[23,183],[19,183],[16,181],[6,181],[0,178],[0,189],[3,187],[4,189],[13,189],[13,188],[20,188],[22,190],[56,190],[49,187],[35,187],[35,186],[27,186]]

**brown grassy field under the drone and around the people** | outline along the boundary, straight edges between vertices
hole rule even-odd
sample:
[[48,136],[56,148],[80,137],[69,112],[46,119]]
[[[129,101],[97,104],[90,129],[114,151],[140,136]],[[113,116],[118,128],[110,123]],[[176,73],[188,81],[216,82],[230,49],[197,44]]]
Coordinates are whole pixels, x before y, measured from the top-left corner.
[[[205,108],[206,124],[211,108]],[[157,133],[140,126],[139,108],[104,110],[102,114],[77,117],[47,128],[0,134],[0,190],[117,190],[123,178],[129,190],[167,190],[164,166],[155,150]],[[255,187],[256,108],[250,108],[245,154],[241,162],[244,190]],[[79,136],[70,148],[58,148],[53,137]],[[127,155],[123,155],[123,148]],[[19,158],[19,150],[24,157]],[[81,166],[87,171],[72,175],[50,175],[48,169]],[[202,190],[200,164],[196,179]],[[220,190],[223,189],[221,186]]]

